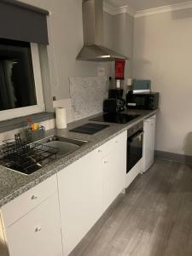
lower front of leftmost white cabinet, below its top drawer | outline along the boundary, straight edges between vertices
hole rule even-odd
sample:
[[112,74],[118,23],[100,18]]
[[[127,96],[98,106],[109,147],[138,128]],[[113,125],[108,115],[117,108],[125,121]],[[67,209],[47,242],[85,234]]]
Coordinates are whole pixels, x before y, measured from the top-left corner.
[[10,256],[61,256],[57,193],[9,226],[6,236]]

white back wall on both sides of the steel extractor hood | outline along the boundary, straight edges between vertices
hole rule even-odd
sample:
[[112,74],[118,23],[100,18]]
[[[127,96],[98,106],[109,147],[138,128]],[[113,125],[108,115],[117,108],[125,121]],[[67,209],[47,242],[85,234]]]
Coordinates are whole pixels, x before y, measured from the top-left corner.
[[[69,77],[97,76],[97,67],[106,67],[106,75],[113,73],[114,63],[76,61],[83,46],[82,0],[21,0],[49,9],[49,60],[52,94],[57,100],[69,98]],[[109,15],[104,12],[104,45],[132,57],[133,17]],[[125,78],[131,76],[129,61]]]

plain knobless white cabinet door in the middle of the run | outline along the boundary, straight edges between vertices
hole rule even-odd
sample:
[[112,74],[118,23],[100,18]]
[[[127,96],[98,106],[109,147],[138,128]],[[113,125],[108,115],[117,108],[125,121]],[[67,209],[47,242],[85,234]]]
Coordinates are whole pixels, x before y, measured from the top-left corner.
[[102,215],[102,160],[98,149],[58,173],[64,255]]

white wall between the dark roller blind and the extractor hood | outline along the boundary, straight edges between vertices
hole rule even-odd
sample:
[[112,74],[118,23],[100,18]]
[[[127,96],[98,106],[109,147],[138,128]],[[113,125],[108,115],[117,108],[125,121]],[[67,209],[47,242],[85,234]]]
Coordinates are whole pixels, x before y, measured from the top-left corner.
[[[110,74],[111,64],[76,61],[76,56],[83,46],[82,0],[22,0],[22,2],[51,12],[48,20],[50,73],[52,94],[57,100],[69,98],[69,77],[97,76],[99,66],[106,67],[106,74]],[[110,25],[106,24],[106,26]]]

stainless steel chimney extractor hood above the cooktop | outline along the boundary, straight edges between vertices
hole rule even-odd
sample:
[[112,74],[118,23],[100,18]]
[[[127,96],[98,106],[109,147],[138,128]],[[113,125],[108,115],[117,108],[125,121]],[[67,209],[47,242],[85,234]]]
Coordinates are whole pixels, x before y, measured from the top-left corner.
[[84,47],[77,56],[78,61],[127,60],[124,55],[108,49],[103,44],[102,0],[83,0]]

